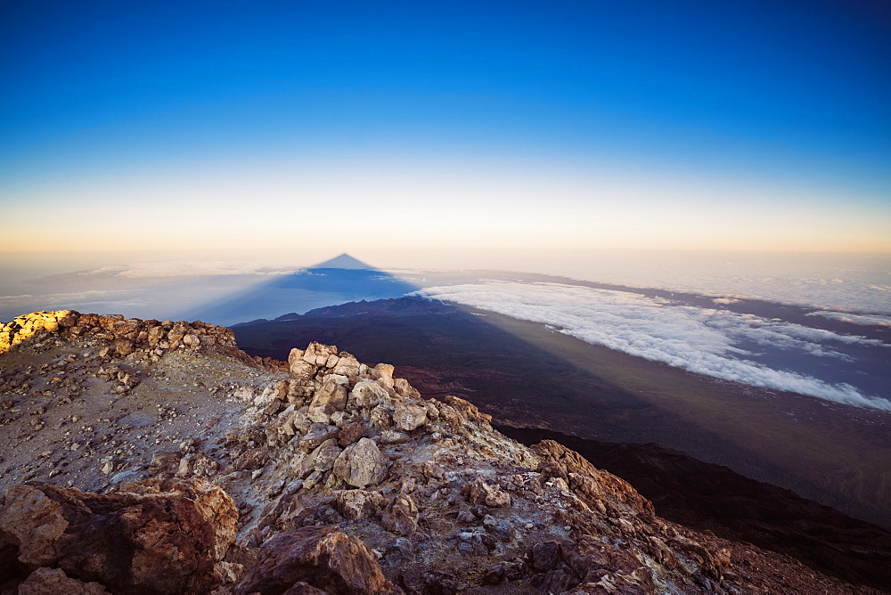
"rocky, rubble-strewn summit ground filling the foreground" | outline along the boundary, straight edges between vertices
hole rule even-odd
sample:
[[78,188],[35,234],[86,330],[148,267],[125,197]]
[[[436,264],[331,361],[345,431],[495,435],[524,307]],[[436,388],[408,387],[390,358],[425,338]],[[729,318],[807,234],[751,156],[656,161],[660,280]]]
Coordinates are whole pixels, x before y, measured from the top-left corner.
[[2,593],[849,593],[658,518],[334,346],[74,311],[0,326]]

